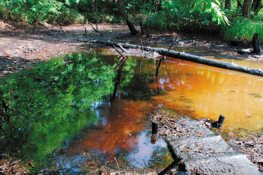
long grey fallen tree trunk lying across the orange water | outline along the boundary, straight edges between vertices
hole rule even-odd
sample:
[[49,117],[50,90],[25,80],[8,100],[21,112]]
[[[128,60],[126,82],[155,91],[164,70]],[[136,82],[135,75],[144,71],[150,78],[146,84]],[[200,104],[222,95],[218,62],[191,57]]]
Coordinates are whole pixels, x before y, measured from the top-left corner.
[[[88,40],[81,40],[81,42],[87,43],[89,42]],[[139,48],[138,45],[134,44],[127,44],[127,43],[118,43],[118,42],[111,42],[111,41],[103,41],[103,40],[93,40],[91,41],[92,43],[96,44],[105,44],[106,46],[115,46],[117,47],[118,45],[122,46],[123,48]],[[145,51],[151,51],[151,52],[158,52],[160,55],[165,55],[167,53],[168,49],[165,48],[152,48],[152,47],[143,47],[143,50]],[[248,74],[253,74],[253,75],[258,75],[258,76],[263,76],[263,69],[255,69],[255,68],[248,68],[245,66],[240,66],[238,64],[232,63],[232,62],[224,62],[224,61],[218,61],[218,60],[211,60],[208,58],[200,57],[200,56],[195,56],[195,55],[190,55],[187,53],[182,53],[182,52],[177,52],[174,50],[169,50],[167,53],[168,57],[174,57],[174,58],[179,58],[182,60],[187,60],[191,62],[196,62],[200,64],[206,64],[209,66],[214,66],[214,67],[219,67],[219,68],[224,68],[224,69],[230,69],[234,71],[240,71]]]

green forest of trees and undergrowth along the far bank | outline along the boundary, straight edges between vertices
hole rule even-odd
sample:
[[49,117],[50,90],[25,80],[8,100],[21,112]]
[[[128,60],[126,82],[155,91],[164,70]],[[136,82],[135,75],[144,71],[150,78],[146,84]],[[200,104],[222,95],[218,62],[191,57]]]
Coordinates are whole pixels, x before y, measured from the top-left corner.
[[[122,4],[125,10],[121,10]],[[263,41],[262,0],[0,0],[0,18],[33,26],[120,23],[145,29],[213,34],[224,40]]]

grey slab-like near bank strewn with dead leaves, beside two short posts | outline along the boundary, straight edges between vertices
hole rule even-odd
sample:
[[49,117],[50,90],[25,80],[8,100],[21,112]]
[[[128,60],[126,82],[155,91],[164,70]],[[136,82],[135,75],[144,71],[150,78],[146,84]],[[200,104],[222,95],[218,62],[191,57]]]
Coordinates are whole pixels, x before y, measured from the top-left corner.
[[183,159],[179,163],[179,170],[188,174],[262,174],[259,171],[262,169],[262,139],[242,142],[250,148],[255,146],[254,150],[240,148],[243,146],[236,146],[234,140],[231,141],[231,148],[220,135],[210,130],[209,119],[193,120],[160,111],[153,114],[152,119],[160,125],[156,137],[164,138],[174,157]]

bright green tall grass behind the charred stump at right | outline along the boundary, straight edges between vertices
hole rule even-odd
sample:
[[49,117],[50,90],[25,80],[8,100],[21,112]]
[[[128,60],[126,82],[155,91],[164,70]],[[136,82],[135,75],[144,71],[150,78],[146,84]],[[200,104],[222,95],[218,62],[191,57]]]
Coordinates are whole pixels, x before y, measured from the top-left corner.
[[221,37],[225,40],[234,38],[251,42],[253,34],[258,33],[259,42],[263,43],[263,20],[262,19],[234,19],[230,26],[222,26]]

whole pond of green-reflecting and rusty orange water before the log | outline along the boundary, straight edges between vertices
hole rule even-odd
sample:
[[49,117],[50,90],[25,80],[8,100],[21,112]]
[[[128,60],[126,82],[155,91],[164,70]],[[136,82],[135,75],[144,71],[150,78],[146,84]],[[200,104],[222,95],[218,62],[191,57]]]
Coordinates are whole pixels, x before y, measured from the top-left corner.
[[[262,133],[263,78],[167,57],[72,53],[1,79],[1,146],[35,168],[82,174],[107,166],[162,170],[172,156],[151,141],[151,111],[216,120],[223,133]],[[116,161],[115,161],[116,158]]]

